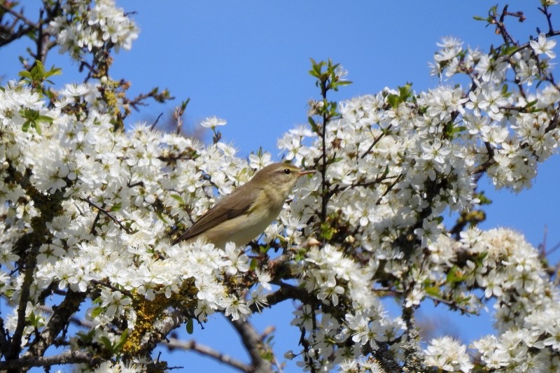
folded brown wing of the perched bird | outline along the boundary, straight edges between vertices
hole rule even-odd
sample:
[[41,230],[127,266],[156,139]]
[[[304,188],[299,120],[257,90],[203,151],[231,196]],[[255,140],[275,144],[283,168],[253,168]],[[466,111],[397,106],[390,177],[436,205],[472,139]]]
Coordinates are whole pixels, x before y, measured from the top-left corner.
[[[246,190],[246,188],[243,188],[245,185],[241,185],[204,213],[185,233],[181,234],[181,237],[173,242],[172,246],[178,242],[197,237],[225,220],[233,219],[251,209],[251,206],[257,200],[260,189]],[[228,203],[233,198],[236,199],[235,204]]]

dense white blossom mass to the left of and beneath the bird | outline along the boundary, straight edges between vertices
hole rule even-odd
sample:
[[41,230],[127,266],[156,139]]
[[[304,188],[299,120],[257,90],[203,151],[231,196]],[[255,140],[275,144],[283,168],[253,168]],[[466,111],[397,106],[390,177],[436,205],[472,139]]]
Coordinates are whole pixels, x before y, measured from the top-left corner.
[[[83,100],[87,93],[71,92]],[[25,109],[52,118],[41,135],[22,130]],[[93,283],[106,284],[87,311],[97,342],[116,338],[100,328],[114,318],[134,329],[134,297],[156,302],[159,295],[169,299],[183,292],[181,304],[201,322],[218,310],[234,320],[248,316],[244,293],[224,283],[224,276],[248,271],[244,248],[169,246],[167,238],[169,230],[187,226],[215,202],[213,190],[228,194],[251,176],[253,169],[231,146],[205,148],[146,125],[119,134],[110,115],[94,108],[81,116],[49,110],[39,94],[16,82],[0,92],[0,118],[0,290],[16,308],[25,272],[12,270],[32,255],[18,248],[18,240],[45,230],[32,244],[36,269],[26,309],[28,318],[33,312],[43,319],[25,329],[22,345],[49,321],[51,315],[36,308],[49,288],[70,296],[90,293]],[[45,213],[51,218],[43,220]],[[17,325],[15,312],[6,328],[14,332]]]

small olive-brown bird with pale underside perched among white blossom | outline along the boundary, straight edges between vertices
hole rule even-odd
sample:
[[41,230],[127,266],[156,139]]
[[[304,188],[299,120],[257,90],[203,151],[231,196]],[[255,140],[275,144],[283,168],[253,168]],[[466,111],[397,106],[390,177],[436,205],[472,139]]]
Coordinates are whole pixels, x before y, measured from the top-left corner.
[[288,163],[269,164],[204,213],[172,246],[197,239],[218,248],[228,242],[248,244],[278,218],[297,180],[314,172]]

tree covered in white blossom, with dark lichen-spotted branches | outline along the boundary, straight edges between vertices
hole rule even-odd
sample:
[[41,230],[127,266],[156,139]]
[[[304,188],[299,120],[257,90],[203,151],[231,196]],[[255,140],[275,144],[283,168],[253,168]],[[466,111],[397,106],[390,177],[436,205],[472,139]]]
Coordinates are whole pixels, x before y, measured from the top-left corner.
[[[503,44],[489,51],[443,38],[432,73],[468,77],[386,88],[336,103],[330,90],[350,82],[341,66],[312,61],[321,98],[309,125],[279,140],[286,160],[316,169],[295,188],[278,221],[246,247],[197,241],[170,246],[198,216],[271,162],[248,160],[221,142],[137,124],[131,108],[169,99],[155,89],[128,98],[109,74],[113,52],[131,48],[134,21],[113,0],[45,0],[40,19],[0,1],[0,46],[29,36],[20,80],[0,88],[0,294],[13,313],[0,318],[0,371],[73,365],[76,372],[165,371],[151,353],[165,343],[196,349],[244,372],[280,371],[250,316],[297,300],[299,347],[286,354],[304,371],[555,372],[560,367],[556,271],[524,237],[482,231],[478,190],[531,187],[539,162],[559,144],[560,87],[549,7],[546,31],[519,43],[507,6],[477,17]],[[45,69],[55,46],[85,71],[80,85],[52,88]],[[452,226],[444,211],[456,211]],[[402,299],[390,318],[382,296]],[[450,337],[421,347],[415,310],[437,302],[476,314],[493,300],[496,333],[466,347]],[[75,316],[81,310],[83,318]],[[186,324],[223,313],[251,363],[195,343],[166,339]],[[80,332],[69,332],[69,323]],[[50,346],[64,352],[45,356]],[[46,368],[45,368],[46,369]]]

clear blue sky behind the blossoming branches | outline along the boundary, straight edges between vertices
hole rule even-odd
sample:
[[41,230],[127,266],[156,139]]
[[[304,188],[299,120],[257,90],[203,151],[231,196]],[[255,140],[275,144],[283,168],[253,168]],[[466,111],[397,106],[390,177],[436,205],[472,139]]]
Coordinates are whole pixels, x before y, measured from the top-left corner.
[[[30,17],[38,12],[36,0],[26,0]],[[160,113],[169,115],[181,100],[191,98],[186,125],[196,126],[217,115],[228,121],[221,127],[224,139],[246,156],[262,146],[279,159],[276,140],[288,129],[307,122],[307,100],[317,99],[318,90],[309,76],[309,57],[332,58],[349,71],[353,84],[342,87],[331,98],[349,99],[376,93],[408,82],[419,92],[437,85],[428,73],[428,62],[441,36],[454,35],[472,47],[489,50],[500,44],[500,36],[473,15],[486,15],[493,1],[153,1],[118,0],[133,15],[141,34],[129,52],[115,55],[111,76],[132,82],[130,94],[167,87],[176,100],[167,106],[151,104],[132,115],[135,121],[153,122]],[[535,27],[546,29],[545,18],[535,0],[510,0],[510,11],[524,10],[524,23],[510,18],[507,27],[524,42]],[[505,3],[500,3],[500,8]],[[553,13],[556,14],[554,9]],[[560,14],[560,13],[558,13]],[[553,16],[553,21],[555,20]],[[556,22],[560,24],[560,22]],[[25,42],[0,49],[0,75],[15,78],[18,55]],[[63,68],[55,83],[83,80],[77,65],[66,55],[49,56],[47,65]],[[6,81],[4,80],[4,82]],[[210,136],[208,136],[210,140]],[[548,246],[560,241],[560,223],[555,218],[560,206],[558,157],[542,164],[534,187],[514,195],[482,181],[493,204],[486,208],[488,219],[482,227],[512,227],[524,233],[534,246],[549,228]],[[446,219],[448,220],[448,219]],[[552,257],[558,260],[559,256]],[[393,308],[393,307],[391,307]],[[286,302],[274,310],[253,316],[264,330],[276,325],[276,352],[297,349],[299,332],[289,327],[293,304]],[[491,312],[491,309],[490,309]],[[443,306],[433,309],[428,302],[421,314],[442,318]],[[489,314],[479,318],[448,314],[447,323],[465,341],[491,332]],[[228,323],[216,316],[204,330],[195,327],[195,339],[232,356],[246,355]],[[445,321],[444,321],[445,322]],[[441,329],[449,327],[442,325]],[[186,337],[181,329],[181,337]],[[165,358],[165,357],[164,357]],[[283,359],[281,359],[283,360]],[[193,353],[176,351],[169,364],[185,366],[185,371],[235,372]],[[190,369],[187,369],[190,368]],[[300,371],[288,362],[286,372]]]

